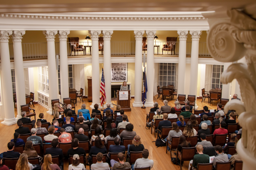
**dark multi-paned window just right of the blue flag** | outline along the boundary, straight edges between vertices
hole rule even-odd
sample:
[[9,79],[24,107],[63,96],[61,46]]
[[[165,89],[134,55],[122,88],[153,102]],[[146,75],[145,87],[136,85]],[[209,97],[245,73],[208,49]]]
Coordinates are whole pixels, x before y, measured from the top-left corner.
[[159,74],[157,86],[174,85],[177,87],[177,64],[176,63],[159,63]]

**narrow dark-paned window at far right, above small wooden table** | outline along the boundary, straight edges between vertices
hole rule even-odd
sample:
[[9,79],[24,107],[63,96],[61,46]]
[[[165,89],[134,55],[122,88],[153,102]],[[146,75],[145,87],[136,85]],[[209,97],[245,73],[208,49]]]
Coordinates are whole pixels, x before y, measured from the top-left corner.
[[212,89],[217,87],[222,88],[222,82],[220,81],[220,75],[223,73],[223,65],[212,65]]

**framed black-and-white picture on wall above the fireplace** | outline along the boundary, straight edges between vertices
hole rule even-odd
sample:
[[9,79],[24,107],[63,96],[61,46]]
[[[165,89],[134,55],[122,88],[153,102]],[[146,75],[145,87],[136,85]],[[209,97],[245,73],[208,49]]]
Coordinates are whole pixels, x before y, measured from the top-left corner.
[[127,63],[111,63],[111,82],[127,82]]

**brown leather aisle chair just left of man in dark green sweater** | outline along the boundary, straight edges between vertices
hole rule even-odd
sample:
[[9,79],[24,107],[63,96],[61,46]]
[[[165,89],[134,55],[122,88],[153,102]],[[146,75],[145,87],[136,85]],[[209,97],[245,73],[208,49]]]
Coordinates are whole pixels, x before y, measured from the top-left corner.
[[176,165],[178,162],[178,158],[180,159],[180,169],[181,169],[181,161],[190,161],[194,158],[194,155],[196,153],[196,147],[190,147],[190,148],[183,148],[181,152],[177,152],[176,154]]

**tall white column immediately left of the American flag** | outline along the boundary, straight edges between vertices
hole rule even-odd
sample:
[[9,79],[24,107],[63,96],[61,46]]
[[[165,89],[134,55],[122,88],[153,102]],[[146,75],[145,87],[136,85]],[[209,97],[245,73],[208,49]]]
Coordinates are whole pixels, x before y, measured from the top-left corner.
[[[90,106],[94,109],[94,104],[100,106],[100,61],[99,61],[99,35],[101,31],[89,31],[92,39],[92,105]],[[105,51],[105,49],[104,49]],[[105,54],[105,52],[104,52]]]

